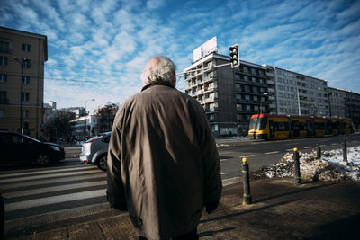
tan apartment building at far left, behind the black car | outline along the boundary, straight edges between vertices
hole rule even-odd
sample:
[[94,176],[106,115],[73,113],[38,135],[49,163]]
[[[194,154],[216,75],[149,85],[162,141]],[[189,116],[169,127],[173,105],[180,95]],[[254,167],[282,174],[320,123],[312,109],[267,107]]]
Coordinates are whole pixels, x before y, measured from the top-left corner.
[[0,129],[40,137],[47,44],[44,35],[0,27]]

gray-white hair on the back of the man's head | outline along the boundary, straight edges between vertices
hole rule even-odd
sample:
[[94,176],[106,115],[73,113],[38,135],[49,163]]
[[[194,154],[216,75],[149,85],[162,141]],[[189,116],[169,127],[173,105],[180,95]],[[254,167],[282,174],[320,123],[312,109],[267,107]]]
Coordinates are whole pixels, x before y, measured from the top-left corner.
[[151,58],[141,74],[144,85],[157,82],[169,82],[175,78],[176,66],[170,58],[157,56]]

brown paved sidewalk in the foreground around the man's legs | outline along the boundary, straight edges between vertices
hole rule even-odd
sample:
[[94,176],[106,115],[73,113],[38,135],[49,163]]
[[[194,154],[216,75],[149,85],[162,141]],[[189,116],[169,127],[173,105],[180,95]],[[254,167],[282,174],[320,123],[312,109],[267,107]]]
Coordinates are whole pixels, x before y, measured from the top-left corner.
[[[250,183],[253,204],[244,206],[240,183],[224,187],[219,209],[205,211],[201,239],[359,239],[360,182],[293,179]],[[137,239],[126,212],[18,239]]]

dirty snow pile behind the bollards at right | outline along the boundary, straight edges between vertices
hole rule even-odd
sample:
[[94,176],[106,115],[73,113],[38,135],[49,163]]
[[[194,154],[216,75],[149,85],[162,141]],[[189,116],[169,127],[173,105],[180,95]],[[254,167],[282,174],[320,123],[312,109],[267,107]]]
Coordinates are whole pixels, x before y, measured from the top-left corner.
[[[360,181],[360,146],[347,148],[347,162],[342,149],[322,152],[321,158],[316,157],[316,151],[300,152],[300,172],[302,181]],[[294,177],[293,153],[285,154],[278,164],[251,173],[252,179],[285,177]]]

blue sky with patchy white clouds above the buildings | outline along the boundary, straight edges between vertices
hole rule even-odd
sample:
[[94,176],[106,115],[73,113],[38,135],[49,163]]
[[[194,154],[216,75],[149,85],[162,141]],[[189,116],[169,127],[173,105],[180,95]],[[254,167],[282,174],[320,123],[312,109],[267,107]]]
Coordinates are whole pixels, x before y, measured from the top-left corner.
[[220,54],[238,43],[246,61],[360,93],[360,0],[0,0],[0,15],[1,26],[48,36],[44,102],[58,108],[121,103],[149,58],[183,71],[214,36]]

